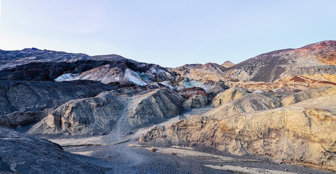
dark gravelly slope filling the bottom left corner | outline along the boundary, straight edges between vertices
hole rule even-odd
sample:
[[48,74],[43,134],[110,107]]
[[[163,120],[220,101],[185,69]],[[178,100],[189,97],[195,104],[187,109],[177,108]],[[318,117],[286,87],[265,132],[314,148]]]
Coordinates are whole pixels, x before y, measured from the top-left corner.
[[63,151],[58,144],[13,130],[0,128],[0,172],[23,174],[100,174],[98,167],[85,157]]

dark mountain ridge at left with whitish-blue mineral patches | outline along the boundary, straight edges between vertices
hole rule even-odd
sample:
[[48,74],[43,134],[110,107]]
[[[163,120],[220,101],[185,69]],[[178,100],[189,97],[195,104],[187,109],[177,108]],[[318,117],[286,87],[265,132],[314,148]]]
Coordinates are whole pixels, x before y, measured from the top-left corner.
[[[58,54],[63,56],[58,57]],[[136,62],[118,55],[91,57],[30,48],[20,51],[0,50],[0,80],[80,79],[106,84],[118,81],[120,84],[111,85],[119,85],[120,88],[126,87],[122,85],[124,83],[145,85],[151,82],[174,81],[175,76],[159,65]]]

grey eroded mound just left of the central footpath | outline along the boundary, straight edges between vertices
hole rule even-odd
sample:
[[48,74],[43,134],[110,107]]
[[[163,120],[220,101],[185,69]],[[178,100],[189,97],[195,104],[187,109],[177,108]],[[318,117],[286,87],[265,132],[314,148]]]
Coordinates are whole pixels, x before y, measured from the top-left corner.
[[106,130],[114,126],[127,103],[125,98],[106,93],[71,100],[43,118],[28,133],[89,133],[92,130]]

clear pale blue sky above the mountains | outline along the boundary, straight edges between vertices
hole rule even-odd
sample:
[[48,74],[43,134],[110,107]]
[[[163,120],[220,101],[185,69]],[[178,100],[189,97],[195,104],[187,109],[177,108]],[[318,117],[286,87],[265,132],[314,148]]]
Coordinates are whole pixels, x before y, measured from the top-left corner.
[[335,7],[335,0],[1,0],[0,49],[117,54],[164,67],[237,64],[336,40]]

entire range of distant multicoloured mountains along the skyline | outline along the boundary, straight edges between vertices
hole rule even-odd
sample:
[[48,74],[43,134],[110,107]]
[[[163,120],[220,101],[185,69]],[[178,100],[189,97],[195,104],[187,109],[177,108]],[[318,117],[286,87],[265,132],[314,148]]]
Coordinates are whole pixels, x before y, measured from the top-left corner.
[[[186,64],[176,68],[163,68],[155,64],[136,62],[115,54],[88,56],[37,48],[0,50],[0,79],[2,80],[85,79],[97,80],[106,84],[115,82],[113,85],[146,85],[152,82],[171,81],[171,84],[178,88],[199,86],[206,90],[209,89],[209,85],[203,83],[210,80],[222,81],[230,87],[247,88],[248,86],[247,89],[255,91],[273,87],[292,86],[302,90],[313,86],[334,85],[335,82],[332,80],[315,78],[335,73],[336,41],[333,40],[297,49],[271,51],[237,65],[225,61],[222,65],[215,63]],[[307,78],[302,80],[303,77],[298,78],[298,75]],[[317,83],[314,80],[320,82]],[[270,84],[274,82],[276,83]],[[282,85],[285,83],[286,85]],[[303,85],[303,87],[298,85]]]

